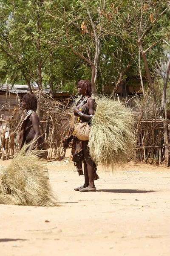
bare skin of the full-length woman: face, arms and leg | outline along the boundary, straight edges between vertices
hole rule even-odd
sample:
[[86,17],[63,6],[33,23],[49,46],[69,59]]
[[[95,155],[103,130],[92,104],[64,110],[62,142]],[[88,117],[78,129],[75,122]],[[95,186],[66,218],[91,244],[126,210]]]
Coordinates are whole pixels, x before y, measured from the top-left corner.
[[[87,92],[82,89],[82,88],[77,88],[77,91],[79,94],[82,94],[82,97],[87,96]],[[92,116],[90,115],[94,115],[94,100],[93,99],[89,99],[88,101],[88,115],[83,114],[82,117],[82,122],[84,119],[86,121],[90,121]],[[79,113],[79,109],[77,107],[74,107],[74,113],[78,114]],[[93,161],[91,160],[91,158],[89,157],[89,152],[88,152],[88,141],[82,141],[82,151],[83,151],[83,156],[84,156],[84,175],[85,175],[85,184],[82,186],[84,188],[88,187],[90,188],[95,188],[94,185],[94,167],[93,167]]]

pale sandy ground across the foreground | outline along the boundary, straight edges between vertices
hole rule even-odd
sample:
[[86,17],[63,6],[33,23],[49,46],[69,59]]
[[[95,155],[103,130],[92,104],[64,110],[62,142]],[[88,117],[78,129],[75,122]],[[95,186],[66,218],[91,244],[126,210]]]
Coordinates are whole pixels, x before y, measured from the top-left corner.
[[126,167],[99,166],[97,192],[83,193],[72,163],[48,163],[59,207],[0,205],[0,256],[170,256],[170,169]]

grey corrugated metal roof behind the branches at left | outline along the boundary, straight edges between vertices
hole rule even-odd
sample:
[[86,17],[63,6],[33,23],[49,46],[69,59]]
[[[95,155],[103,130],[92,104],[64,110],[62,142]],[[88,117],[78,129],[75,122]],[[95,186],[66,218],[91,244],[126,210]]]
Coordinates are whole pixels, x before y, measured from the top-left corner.
[[[38,85],[33,84],[35,90],[38,90]],[[8,84],[9,92],[10,93],[29,93],[28,85],[27,84]],[[50,93],[49,85],[46,88],[43,88],[43,93]],[[7,90],[7,84],[0,84],[0,91]],[[56,93],[63,93],[62,91]]]

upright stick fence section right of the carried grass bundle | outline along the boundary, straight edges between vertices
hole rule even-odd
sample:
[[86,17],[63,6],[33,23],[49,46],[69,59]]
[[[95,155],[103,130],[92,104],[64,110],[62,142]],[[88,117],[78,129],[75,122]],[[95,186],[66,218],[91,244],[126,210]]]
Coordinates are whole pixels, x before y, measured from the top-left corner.
[[[164,109],[155,103],[148,89],[144,99],[134,97],[126,102],[136,114],[136,153],[135,161],[169,166],[169,125],[166,104]],[[164,118],[164,119],[163,119]]]

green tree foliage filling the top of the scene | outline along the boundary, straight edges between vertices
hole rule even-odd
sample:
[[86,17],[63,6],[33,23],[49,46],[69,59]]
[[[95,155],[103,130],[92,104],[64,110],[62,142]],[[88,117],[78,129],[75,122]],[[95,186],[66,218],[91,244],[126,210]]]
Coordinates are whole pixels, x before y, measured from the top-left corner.
[[[167,1],[136,2],[141,34],[166,6]],[[96,79],[98,92],[102,92],[102,81],[105,85],[115,85],[130,59],[133,62],[123,79],[136,76],[139,73],[138,44],[131,1],[106,0],[104,8],[103,1],[99,0],[1,0],[0,82],[8,78],[11,83],[35,81],[40,87],[50,84],[53,93],[55,88],[72,92],[79,79],[91,80],[89,62],[94,62],[96,41],[88,10],[96,36],[101,36]],[[166,34],[170,28],[168,18],[167,11],[147,31],[142,42],[144,50]],[[71,46],[86,60],[69,47],[65,21]],[[84,33],[83,21],[87,29]],[[147,52],[151,73],[163,51],[160,43]],[[145,74],[142,60],[141,65]]]

